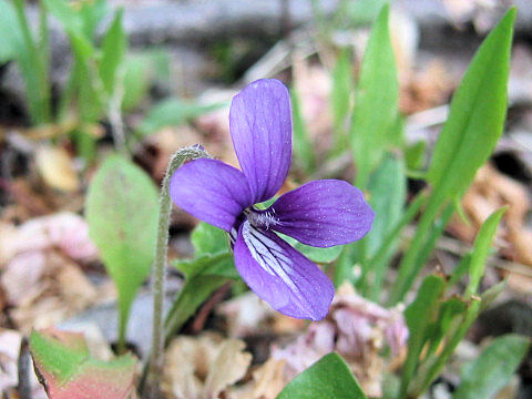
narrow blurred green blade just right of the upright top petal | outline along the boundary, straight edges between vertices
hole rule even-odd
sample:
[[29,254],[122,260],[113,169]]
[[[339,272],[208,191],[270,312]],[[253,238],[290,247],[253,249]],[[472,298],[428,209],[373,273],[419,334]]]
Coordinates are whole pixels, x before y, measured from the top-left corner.
[[291,117],[294,122],[294,157],[303,170],[310,173],[316,166],[313,144],[308,136],[308,129],[301,113],[299,95],[295,88],[290,89]]

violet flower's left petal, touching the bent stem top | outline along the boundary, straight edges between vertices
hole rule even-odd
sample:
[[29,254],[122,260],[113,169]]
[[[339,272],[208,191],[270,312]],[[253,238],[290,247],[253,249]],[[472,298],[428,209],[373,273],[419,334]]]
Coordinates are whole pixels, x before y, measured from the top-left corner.
[[182,209],[226,232],[231,232],[242,211],[253,204],[246,176],[209,158],[191,161],[175,171],[170,196]]

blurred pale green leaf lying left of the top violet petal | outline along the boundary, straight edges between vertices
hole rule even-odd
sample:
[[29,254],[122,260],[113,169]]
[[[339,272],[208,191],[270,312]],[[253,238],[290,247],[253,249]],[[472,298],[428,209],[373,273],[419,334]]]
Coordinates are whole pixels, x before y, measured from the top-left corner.
[[223,105],[225,104],[203,105],[178,99],[163,100],[151,109],[139,126],[139,132],[143,135],[149,135],[166,126],[181,125]]

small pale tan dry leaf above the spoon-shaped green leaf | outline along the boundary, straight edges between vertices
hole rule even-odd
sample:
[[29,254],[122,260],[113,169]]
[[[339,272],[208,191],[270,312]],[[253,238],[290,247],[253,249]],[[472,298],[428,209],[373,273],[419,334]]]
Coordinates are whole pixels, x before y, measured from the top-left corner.
[[43,145],[35,153],[35,166],[43,181],[51,187],[74,192],[80,187],[72,158],[63,147]]

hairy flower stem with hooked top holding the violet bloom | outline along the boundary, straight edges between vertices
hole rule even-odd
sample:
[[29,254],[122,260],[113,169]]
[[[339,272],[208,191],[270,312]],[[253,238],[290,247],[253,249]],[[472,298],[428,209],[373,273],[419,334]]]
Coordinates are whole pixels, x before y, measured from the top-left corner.
[[166,265],[166,253],[168,248],[168,225],[172,202],[170,200],[170,180],[174,172],[185,161],[208,157],[208,154],[200,146],[194,145],[178,150],[170,160],[166,174],[161,186],[160,214],[157,229],[157,246],[155,249],[155,262],[153,265],[153,338],[152,355],[147,375],[145,399],[157,399],[160,397],[161,376],[163,369],[164,352],[164,328],[163,328],[163,298],[164,277]]

